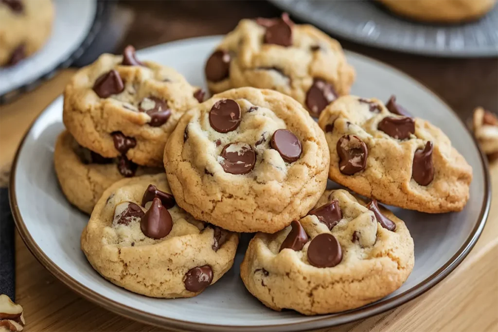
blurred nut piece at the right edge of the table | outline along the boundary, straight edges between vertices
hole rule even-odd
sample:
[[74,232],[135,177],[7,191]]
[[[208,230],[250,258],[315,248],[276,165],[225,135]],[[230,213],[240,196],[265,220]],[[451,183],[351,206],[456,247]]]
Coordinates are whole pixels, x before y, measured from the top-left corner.
[[472,131],[490,161],[498,159],[498,117],[482,107],[474,110]]

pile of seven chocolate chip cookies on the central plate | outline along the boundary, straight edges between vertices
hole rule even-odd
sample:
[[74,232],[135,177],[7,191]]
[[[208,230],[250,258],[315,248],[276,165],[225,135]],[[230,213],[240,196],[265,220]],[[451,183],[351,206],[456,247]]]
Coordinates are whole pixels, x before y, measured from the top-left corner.
[[55,166],[91,213],[89,262],[132,292],[192,297],[232,267],[240,233],[255,233],[241,278],[271,309],[334,313],[398,289],[413,239],[379,202],[460,211],[472,169],[394,97],[348,95],[354,75],[337,41],[285,14],[227,35],[206,63],[217,94],[205,102],[132,47],[82,69]]

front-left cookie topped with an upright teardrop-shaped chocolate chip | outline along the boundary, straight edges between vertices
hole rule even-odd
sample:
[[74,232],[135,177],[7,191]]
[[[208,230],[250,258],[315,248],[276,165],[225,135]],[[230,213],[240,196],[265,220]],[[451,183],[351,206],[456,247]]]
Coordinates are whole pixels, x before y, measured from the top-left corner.
[[104,278],[159,298],[200,294],[232,267],[238,243],[237,233],[176,206],[164,174],[116,182],[81,234],[83,252]]

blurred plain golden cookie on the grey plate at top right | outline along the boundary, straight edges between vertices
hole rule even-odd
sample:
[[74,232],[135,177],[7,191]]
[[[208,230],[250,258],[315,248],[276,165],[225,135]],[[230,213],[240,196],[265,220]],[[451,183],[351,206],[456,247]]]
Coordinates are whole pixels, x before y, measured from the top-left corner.
[[392,12],[424,22],[458,23],[480,18],[496,0],[376,0]]

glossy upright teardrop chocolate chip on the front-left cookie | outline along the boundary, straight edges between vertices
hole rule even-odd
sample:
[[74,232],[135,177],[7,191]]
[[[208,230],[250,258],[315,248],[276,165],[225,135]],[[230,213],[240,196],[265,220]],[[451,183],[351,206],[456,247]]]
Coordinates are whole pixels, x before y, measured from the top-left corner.
[[140,219],[142,233],[151,238],[159,239],[168,235],[173,227],[173,220],[168,210],[162,206],[157,197],[152,200],[152,205]]

